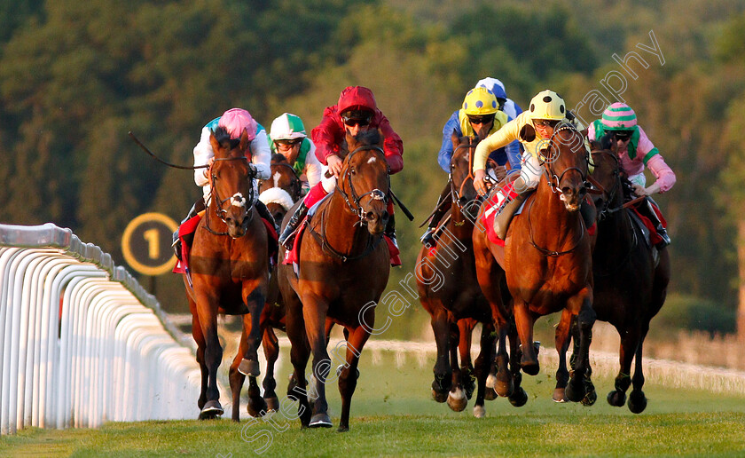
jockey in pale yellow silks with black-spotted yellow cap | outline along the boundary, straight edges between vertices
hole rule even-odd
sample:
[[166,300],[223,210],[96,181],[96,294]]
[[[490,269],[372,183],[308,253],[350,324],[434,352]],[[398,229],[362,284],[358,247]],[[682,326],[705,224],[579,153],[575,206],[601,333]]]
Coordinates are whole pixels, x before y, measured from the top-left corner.
[[[504,240],[506,228],[509,226],[514,212],[520,208],[529,193],[533,192],[538,186],[543,172],[538,158],[540,149],[545,146],[546,140],[551,138],[553,129],[560,122],[571,123],[577,130],[584,128],[575,116],[568,112],[564,99],[561,99],[559,94],[550,90],[541,91],[530,100],[528,111],[518,114],[513,121],[507,122],[505,127],[484,138],[476,146],[474,153],[474,187],[476,192],[481,195],[485,195],[487,191],[484,184],[484,178],[486,177],[484,169],[489,152],[495,148],[506,146],[514,140],[519,140],[525,148],[525,152],[522,154],[520,177],[516,178],[512,185],[514,193],[509,193],[505,197],[495,219],[495,227],[500,228],[497,231],[499,238]],[[584,201],[581,210],[585,222],[592,225],[592,219],[594,218],[589,215],[589,209],[585,208]]]

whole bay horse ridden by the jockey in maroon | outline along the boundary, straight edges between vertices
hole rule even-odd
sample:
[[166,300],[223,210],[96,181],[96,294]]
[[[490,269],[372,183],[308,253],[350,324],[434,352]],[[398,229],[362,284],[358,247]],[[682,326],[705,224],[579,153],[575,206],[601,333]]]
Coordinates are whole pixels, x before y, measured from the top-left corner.
[[[292,343],[294,381],[288,394],[298,399],[301,426],[332,426],[325,383],[339,380],[341,421],[349,430],[351,399],[357,387],[357,365],[374,329],[375,304],[388,283],[389,252],[382,240],[388,222],[388,164],[378,130],[346,138],[345,155],[333,193],[318,204],[302,239],[299,276],[292,265],[280,265],[279,288],[287,307],[287,336]],[[286,225],[289,217],[285,218]],[[280,255],[284,249],[280,249]],[[327,324],[326,320],[330,323]],[[331,323],[344,327],[344,363],[332,370],[326,351]],[[310,391],[305,367],[313,354]],[[310,408],[308,395],[315,398]]]

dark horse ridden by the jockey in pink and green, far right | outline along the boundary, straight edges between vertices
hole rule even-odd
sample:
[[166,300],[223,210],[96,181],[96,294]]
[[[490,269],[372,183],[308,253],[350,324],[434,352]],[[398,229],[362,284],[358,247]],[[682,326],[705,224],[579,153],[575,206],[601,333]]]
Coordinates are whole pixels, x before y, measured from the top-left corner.
[[[670,255],[667,249],[657,252],[644,241],[639,225],[632,221],[623,193],[623,171],[616,154],[616,142],[600,146],[593,143],[592,178],[600,188],[598,236],[592,255],[594,277],[593,309],[598,320],[613,325],[621,337],[619,371],[616,389],[608,393],[608,404],[623,407],[626,391],[633,383],[628,406],[634,414],[647,407],[642,391],[644,374],[642,353],[649,321],[663,307],[670,282]],[[566,354],[566,348],[564,349]],[[560,355],[560,358],[565,358]],[[631,362],[634,375],[631,379]],[[557,390],[560,390],[557,376]],[[561,392],[556,393],[561,396]]]

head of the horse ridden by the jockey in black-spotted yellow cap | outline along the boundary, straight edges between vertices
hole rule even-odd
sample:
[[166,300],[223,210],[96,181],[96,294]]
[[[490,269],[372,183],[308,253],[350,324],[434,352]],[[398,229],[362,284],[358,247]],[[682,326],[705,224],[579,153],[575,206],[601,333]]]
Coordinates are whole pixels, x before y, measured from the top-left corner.
[[543,151],[548,183],[564,207],[573,212],[579,209],[587,193],[589,157],[584,147],[584,136],[568,123],[559,124]]

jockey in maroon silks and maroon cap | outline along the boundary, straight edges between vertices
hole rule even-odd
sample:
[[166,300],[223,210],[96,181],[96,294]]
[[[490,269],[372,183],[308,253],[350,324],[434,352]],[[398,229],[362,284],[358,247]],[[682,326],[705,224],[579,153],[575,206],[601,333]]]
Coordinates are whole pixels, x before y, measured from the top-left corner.
[[[336,179],[341,173],[341,145],[347,132],[357,135],[361,131],[380,129],[385,143],[383,151],[388,162],[390,173],[394,174],[404,169],[404,142],[390,127],[388,118],[378,109],[372,91],[363,86],[349,86],[341,91],[339,101],[333,107],[326,107],[324,117],[318,127],[310,132],[313,143],[316,144],[316,156],[323,164],[321,167],[321,181],[310,188],[293,217],[279,236],[279,243],[286,249],[292,249],[294,232],[302,222],[308,209],[331,193],[336,187]],[[326,170],[333,174],[325,177]],[[396,223],[393,217],[393,203],[388,202],[388,226],[385,234],[396,244]]]

